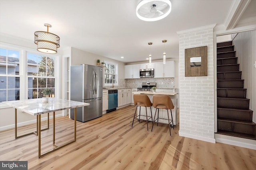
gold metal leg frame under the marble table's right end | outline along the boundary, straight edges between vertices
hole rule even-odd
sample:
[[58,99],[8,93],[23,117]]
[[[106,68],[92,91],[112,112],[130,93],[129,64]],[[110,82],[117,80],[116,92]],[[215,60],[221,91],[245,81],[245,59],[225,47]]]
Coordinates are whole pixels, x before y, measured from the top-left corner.
[[74,143],[76,141],[76,108],[74,108],[74,139],[68,143],[65,143],[61,146],[57,146],[55,144],[55,112],[53,112],[53,145],[56,147],[54,149],[49,150],[48,152],[44,152],[41,154],[41,115],[38,115],[38,158],[42,158],[43,156],[50,154],[54,152],[55,150],[58,150],[62,147],[65,147],[71,143]]

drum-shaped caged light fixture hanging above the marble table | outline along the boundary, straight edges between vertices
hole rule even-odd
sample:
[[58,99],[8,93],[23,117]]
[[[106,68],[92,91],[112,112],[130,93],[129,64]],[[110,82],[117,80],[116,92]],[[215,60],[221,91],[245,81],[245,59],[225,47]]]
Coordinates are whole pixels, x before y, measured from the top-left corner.
[[47,27],[47,32],[45,31],[36,31],[34,43],[37,45],[37,50],[42,53],[57,53],[57,48],[60,47],[60,37],[56,34],[49,33],[49,27],[52,25],[45,23],[44,26]]

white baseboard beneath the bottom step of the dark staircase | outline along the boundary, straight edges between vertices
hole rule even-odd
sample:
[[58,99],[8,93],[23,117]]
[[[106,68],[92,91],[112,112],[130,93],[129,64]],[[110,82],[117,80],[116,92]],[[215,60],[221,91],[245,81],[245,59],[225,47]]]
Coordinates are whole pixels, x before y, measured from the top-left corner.
[[256,150],[256,140],[244,139],[215,133],[216,142]]

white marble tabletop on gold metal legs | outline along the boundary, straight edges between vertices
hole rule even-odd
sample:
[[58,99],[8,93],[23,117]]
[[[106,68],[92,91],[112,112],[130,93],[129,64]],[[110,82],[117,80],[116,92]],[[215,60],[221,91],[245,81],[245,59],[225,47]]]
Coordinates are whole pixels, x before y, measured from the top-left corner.
[[42,98],[28,99],[28,100],[14,100],[3,102],[4,104],[14,107],[20,111],[24,111],[31,115],[40,115],[53,111],[60,111],[82,106],[89,106],[90,104],[84,102],[76,102],[72,100],[63,100],[57,98],[49,98],[48,103],[42,103]]

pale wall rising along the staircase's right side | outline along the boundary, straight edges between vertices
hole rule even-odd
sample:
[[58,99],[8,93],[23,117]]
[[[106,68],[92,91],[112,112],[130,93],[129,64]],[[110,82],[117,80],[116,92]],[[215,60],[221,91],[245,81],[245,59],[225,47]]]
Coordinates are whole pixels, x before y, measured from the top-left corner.
[[254,111],[253,121],[256,122],[256,30],[240,32],[233,40],[236,57],[242,71],[246,98],[250,99],[250,109]]

